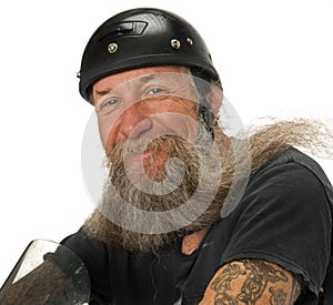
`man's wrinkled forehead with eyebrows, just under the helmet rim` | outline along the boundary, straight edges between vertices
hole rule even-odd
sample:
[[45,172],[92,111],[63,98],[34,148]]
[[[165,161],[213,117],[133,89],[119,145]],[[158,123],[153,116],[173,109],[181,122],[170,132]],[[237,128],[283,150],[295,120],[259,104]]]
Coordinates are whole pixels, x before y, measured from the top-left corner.
[[144,83],[150,80],[173,81],[174,83],[189,82],[188,68],[178,65],[161,65],[140,68],[102,78],[93,84],[93,98],[107,94],[123,84]]

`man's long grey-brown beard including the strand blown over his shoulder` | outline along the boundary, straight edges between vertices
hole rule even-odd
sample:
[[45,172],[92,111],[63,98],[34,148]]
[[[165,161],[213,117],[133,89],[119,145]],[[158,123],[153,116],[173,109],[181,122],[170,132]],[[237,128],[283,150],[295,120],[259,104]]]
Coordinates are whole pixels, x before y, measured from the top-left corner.
[[[198,141],[192,144],[176,136],[161,136],[150,143],[147,151],[165,151],[168,148],[168,155],[176,157],[178,161],[173,164],[167,163],[152,180],[142,173],[138,175],[142,169],[128,169],[123,146],[117,146],[107,162],[109,182],[105,184],[101,204],[85,221],[83,231],[91,237],[130,252],[158,252],[184,235],[210,227],[219,221],[231,186],[248,179],[252,172],[285,149],[294,145],[317,156],[331,157],[333,154],[333,134],[319,121],[273,121],[269,125],[249,129],[249,133],[242,136],[245,140],[230,145],[226,144],[226,136],[221,129],[215,128],[214,144],[221,152],[218,164],[206,132],[201,132]],[[250,171],[246,157],[249,151]],[[150,161],[153,163],[155,160]],[[182,213],[175,213],[174,217],[161,216],[185,205],[193,194],[198,194],[198,186],[202,184],[203,162],[208,169],[206,181],[216,181],[219,175],[218,189],[214,190],[215,186],[210,183],[203,183],[203,190],[196,197],[200,205],[200,201],[213,194],[210,204],[200,213],[199,205],[192,204]],[[149,167],[149,162],[143,165],[143,170]],[[163,193],[161,190],[172,191]],[[124,203],[134,209],[122,209]],[[155,213],[153,222],[148,221],[142,211]]]

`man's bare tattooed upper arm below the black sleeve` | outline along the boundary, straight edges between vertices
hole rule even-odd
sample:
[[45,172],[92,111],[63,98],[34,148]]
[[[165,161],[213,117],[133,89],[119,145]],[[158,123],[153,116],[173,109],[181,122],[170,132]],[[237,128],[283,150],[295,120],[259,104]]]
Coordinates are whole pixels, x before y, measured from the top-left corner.
[[289,305],[301,293],[292,273],[261,260],[242,260],[222,266],[200,305]]

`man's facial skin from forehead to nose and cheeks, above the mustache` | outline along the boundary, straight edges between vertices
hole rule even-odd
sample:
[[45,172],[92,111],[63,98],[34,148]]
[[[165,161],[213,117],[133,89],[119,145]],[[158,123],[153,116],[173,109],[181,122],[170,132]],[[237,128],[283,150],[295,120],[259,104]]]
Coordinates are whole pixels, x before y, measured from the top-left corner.
[[[174,80],[165,73],[179,73],[180,77]],[[159,102],[153,99],[165,94],[192,101]],[[109,75],[93,85],[93,100],[101,140],[107,149],[148,132],[181,129],[188,136],[195,132],[189,121],[183,121],[184,118],[168,115],[180,113],[196,120],[193,84],[189,81],[188,71],[181,67],[143,68]],[[154,116],[161,113],[167,115]]]

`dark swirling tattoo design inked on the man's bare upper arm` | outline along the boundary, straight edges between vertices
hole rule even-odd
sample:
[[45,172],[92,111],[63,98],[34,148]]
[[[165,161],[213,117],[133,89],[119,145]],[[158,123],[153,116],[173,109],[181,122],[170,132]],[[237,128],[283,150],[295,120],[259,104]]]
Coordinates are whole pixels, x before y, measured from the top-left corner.
[[[244,260],[245,270],[236,263],[230,264],[221,274],[213,279],[210,288],[215,292],[214,305],[236,305],[239,302],[246,305],[255,305],[256,301],[263,295],[269,283],[287,282],[284,272],[274,268],[260,260]],[[242,275],[246,275],[241,287],[241,293],[236,296],[230,295],[231,282]],[[296,287],[296,286],[295,286]],[[271,305],[283,305],[286,301],[286,292],[282,288],[269,289],[271,293]]]

